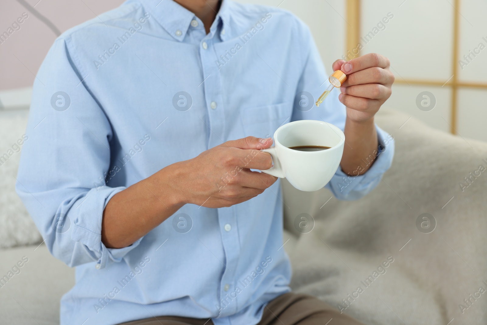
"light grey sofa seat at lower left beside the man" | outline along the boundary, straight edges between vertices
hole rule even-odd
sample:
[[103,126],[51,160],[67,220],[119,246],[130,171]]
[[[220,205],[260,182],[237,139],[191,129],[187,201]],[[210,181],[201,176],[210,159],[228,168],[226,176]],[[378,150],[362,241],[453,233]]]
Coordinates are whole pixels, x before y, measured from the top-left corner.
[[0,324],[59,324],[59,301],[75,285],[75,269],[44,244],[1,249],[0,261],[0,306],[8,310],[0,313]]

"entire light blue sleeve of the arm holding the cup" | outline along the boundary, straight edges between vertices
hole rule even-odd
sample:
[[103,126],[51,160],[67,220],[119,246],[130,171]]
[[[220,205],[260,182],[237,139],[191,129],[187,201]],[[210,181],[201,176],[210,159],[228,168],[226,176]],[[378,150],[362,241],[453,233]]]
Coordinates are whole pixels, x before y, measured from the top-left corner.
[[119,262],[135,248],[101,242],[103,210],[125,187],[109,187],[112,129],[59,38],[34,82],[16,191],[50,252],[70,267]]

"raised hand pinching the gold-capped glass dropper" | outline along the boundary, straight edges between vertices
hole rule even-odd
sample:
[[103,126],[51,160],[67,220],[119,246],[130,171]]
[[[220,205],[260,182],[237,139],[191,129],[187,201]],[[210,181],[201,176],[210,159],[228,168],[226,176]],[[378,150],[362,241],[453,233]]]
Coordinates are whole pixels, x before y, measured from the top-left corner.
[[362,122],[373,118],[391,96],[394,75],[389,67],[389,59],[375,53],[333,63],[333,71],[347,75],[338,98],[347,107],[349,119]]

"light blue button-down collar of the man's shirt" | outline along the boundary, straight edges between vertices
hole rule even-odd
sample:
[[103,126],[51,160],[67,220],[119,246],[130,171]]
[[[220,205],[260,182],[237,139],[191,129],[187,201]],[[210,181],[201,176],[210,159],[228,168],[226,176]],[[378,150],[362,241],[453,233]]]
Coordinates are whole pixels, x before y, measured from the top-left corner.
[[[178,41],[183,41],[191,20],[196,16],[185,7],[173,0],[140,0],[144,7],[154,16],[162,27]],[[229,33],[230,11],[229,0],[222,0],[220,10],[211,25],[210,34],[215,34],[220,30],[220,37],[225,40]],[[200,19],[197,19],[200,21]],[[222,21],[222,28],[218,28]]]

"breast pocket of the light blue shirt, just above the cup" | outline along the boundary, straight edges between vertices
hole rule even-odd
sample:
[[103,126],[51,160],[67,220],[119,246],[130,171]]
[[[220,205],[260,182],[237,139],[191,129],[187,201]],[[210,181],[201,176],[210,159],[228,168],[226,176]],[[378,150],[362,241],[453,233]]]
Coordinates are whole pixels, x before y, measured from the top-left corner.
[[292,103],[245,107],[240,112],[245,136],[267,138],[291,120]]

